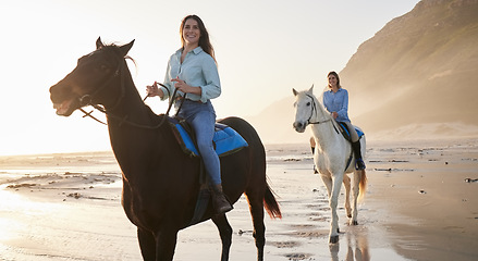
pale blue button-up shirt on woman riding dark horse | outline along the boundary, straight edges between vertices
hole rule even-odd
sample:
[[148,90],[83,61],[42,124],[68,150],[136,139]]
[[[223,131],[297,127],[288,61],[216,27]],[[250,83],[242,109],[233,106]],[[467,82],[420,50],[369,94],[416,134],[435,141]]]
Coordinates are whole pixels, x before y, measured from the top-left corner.
[[[164,96],[162,99],[167,99],[174,91],[174,83],[171,79],[176,78],[186,82],[187,85],[201,88],[201,95],[187,94],[187,99],[193,101],[207,102],[210,99],[215,99],[221,95],[221,83],[219,80],[218,66],[215,59],[197,47],[186,54],[183,63],[181,63],[181,54],[183,50],[180,49],[173,53],[168,62],[168,69],[166,71],[164,85],[168,86],[168,90],[161,87]],[[177,95],[183,96],[182,91],[177,91]]]

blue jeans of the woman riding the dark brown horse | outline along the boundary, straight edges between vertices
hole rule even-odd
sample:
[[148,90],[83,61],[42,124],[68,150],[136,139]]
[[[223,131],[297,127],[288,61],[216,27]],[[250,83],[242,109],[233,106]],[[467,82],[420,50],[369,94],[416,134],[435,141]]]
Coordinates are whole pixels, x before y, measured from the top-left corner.
[[216,111],[211,102],[207,101],[206,103],[201,103],[186,99],[177,115],[186,120],[193,127],[196,135],[197,149],[199,150],[205,169],[207,173],[209,173],[212,184],[221,184],[221,165],[219,157],[212,146]]

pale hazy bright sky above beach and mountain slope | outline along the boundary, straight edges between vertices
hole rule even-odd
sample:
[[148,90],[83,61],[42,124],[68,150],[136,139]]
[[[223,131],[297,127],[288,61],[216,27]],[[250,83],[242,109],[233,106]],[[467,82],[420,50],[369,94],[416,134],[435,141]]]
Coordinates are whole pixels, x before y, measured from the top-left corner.
[[[130,69],[144,96],[180,48],[181,20],[199,15],[219,63],[218,117],[247,116],[291,96],[291,88],[324,86],[329,71],[340,72],[361,42],[417,2],[2,0],[0,154],[110,149],[106,126],[77,112],[57,116],[48,92],[98,36],[107,44],[136,39],[130,55],[137,67]],[[166,102],[147,103],[166,112]]]

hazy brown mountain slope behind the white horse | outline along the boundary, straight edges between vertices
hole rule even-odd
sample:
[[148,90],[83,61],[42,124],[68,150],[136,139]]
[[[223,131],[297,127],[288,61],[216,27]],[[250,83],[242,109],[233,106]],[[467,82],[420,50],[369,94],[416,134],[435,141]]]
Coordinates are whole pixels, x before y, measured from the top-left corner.
[[[369,136],[478,137],[478,0],[420,1],[360,45],[340,76]],[[307,142],[309,132],[292,129],[292,103],[291,94],[247,119],[265,142]]]

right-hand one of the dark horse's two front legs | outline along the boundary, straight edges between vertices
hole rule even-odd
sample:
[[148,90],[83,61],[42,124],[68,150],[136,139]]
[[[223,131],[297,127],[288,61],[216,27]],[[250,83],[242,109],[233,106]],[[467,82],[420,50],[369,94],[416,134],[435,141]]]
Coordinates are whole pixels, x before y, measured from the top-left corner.
[[156,235],[156,261],[172,261],[176,240],[177,229],[164,225]]

